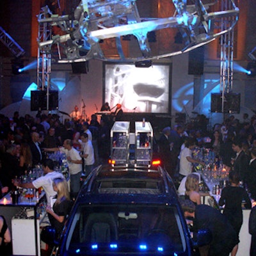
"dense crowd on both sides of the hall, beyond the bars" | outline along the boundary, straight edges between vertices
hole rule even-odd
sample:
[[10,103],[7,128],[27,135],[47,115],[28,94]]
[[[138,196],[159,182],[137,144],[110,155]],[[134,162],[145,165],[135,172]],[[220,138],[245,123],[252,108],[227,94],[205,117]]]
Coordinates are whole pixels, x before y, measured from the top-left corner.
[[[120,112],[119,104],[116,106],[118,110]],[[110,155],[113,120],[103,117],[99,121],[96,115],[86,121],[70,118],[62,124],[58,115],[38,113],[33,118],[28,114],[19,116],[17,111],[12,117],[1,115],[2,187],[12,189],[14,177],[42,163],[49,153],[56,150],[69,157],[68,167],[72,175],[88,175],[94,166],[106,163]],[[218,161],[238,173],[244,187],[256,198],[256,175],[253,172],[256,164],[256,115],[251,120],[244,115],[242,121],[231,115],[223,124],[214,124],[211,131],[207,130],[205,118],[200,118],[196,125],[176,124],[173,128],[165,127],[162,134],[154,135],[154,152],[159,154],[163,167],[173,180],[180,182],[192,172],[195,164],[204,165],[202,159],[193,158],[195,147],[211,148]]]

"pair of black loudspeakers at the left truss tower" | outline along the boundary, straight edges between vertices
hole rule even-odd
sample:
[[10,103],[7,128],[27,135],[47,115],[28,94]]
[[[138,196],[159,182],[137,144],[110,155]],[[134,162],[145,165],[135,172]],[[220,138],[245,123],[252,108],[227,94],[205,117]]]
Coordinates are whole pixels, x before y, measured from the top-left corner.
[[31,111],[52,110],[58,108],[59,97],[58,91],[49,91],[49,109],[47,109],[47,92],[31,91],[30,109]]

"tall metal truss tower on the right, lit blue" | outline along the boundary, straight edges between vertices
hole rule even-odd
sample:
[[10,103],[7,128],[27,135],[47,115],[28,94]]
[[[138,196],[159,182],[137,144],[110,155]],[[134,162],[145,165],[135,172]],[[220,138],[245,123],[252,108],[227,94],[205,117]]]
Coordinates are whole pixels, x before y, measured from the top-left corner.
[[[234,4],[232,1],[221,0],[221,10],[230,10]],[[221,30],[227,29],[236,17],[223,17]],[[224,93],[232,92],[233,88],[233,59],[234,59],[234,28],[221,35],[221,58],[220,58],[220,92],[222,93],[222,112],[224,106]]]

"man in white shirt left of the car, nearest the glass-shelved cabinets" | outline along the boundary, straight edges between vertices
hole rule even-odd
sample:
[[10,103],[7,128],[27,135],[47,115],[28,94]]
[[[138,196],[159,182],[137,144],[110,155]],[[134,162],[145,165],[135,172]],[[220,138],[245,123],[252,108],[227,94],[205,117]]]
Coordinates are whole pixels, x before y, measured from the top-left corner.
[[95,163],[94,150],[92,141],[88,139],[86,132],[81,134],[81,140],[83,142],[83,154],[81,154],[81,157],[84,158],[84,171],[85,175],[88,176],[92,172],[93,164]]

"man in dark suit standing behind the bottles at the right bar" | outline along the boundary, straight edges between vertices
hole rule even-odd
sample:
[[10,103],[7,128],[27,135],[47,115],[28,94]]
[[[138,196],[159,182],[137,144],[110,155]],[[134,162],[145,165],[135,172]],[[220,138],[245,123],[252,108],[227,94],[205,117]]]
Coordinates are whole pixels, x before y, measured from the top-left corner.
[[234,140],[232,143],[232,149],[236,152],[236,159],[232,161],[233,172],[239,175],[239,180],[246,183],[246,173],[248,172],[249,159],[246,156],[241,140]]

